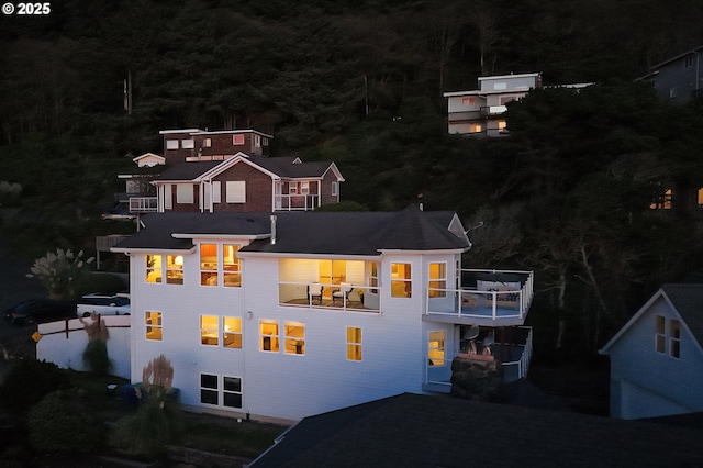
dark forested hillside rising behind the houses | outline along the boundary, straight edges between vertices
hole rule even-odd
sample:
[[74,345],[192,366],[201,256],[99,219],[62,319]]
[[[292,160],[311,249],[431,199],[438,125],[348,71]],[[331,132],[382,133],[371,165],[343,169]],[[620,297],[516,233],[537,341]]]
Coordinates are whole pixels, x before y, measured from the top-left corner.
[[[159,130],[254,127],[274,155],[333,159],[345,200],[457,210],[473,267],[534,269],[545,343],[592,352],[666,281],[702,268],[703,107],[635,79],[703,43],[694,0],[52,2],[0,18],[3,237],[25,255],[90,248],[131,157]],[[445,91],[542,71],[511,138],[446,134]],[[129,99],[125,99],[125,86]],[[0,187],[1,188],[1,187]],[[47,227],[51,226],[51,227]]]

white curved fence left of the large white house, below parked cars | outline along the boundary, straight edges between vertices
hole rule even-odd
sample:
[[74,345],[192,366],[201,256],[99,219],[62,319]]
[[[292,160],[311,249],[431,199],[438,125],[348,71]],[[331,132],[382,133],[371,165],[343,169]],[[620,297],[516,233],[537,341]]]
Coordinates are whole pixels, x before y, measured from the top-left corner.
[[[89,323],[90,319],[83,319]],[[108,327],[108,357],[112,363],[110,374],[129,379],[130,366],[130,315],[104,315]],[[83,350],[88,346],[88,333],[79,319],[41,323],[41,335],[36,343],[36,359],[54,363],[62,369],[90,370],[83,364]]]

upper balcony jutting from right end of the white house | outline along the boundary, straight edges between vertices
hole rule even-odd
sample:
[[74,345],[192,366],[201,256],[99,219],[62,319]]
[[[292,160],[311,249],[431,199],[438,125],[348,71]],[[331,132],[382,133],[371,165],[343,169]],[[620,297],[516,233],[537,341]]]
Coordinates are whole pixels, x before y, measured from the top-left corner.
[[423,320],[481,326],[522,325],[533,293],[532,271],[461,270],[460,288],[427,289]]

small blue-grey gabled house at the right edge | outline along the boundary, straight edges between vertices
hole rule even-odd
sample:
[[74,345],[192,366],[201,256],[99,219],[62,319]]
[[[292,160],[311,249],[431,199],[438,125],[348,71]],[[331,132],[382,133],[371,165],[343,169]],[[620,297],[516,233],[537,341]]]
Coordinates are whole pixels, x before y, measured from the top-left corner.
[[703,285],[665,285],[600,350],[611,358],[611,416],[703,411]]

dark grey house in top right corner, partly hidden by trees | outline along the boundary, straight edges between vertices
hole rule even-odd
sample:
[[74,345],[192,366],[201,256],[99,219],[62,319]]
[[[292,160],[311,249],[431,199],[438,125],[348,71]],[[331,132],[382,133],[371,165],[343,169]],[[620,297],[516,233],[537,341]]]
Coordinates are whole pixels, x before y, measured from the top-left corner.
[[671,102],[683,103],[700,98],[703,96],[702,53],[703,45],[671,57],[651,67],[639,80],[650,82],[657,94]]

